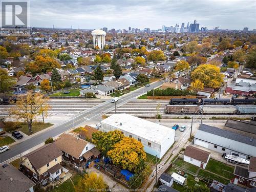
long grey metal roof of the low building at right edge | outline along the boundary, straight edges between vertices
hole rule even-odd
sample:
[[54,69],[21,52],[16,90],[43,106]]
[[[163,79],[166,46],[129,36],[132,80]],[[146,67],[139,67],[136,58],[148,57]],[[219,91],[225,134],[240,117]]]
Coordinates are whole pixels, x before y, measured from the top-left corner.
[[201,124],[195,138],[252,157],[256,156],[256,139],[221,130],[214,126]]

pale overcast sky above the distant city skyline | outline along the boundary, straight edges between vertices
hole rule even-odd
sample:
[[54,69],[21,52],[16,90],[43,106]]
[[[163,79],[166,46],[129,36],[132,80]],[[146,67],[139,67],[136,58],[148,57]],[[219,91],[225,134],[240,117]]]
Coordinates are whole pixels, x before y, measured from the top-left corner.
[[31,0],[32,27],[160,29],[193,23],[208,29],[256,29],[255,0]]

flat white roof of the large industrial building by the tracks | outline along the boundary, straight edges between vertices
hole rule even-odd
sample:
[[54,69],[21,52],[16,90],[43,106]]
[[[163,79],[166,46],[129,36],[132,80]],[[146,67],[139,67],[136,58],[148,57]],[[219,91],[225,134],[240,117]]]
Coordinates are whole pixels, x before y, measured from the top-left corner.
[[162,144],[170,133],[175,135],[175,131],[172,128],[127,114],[111,115],[102,120],[101,123],[114,126],[119,130],[129,132],[158,144]]

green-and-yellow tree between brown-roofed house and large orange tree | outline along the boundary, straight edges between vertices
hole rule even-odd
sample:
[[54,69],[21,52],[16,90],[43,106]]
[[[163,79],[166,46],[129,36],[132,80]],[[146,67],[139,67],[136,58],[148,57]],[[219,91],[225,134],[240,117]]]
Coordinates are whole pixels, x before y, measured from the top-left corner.
[[103,155],[106,155],[110,150],[114,148],[114,145],[121,141],[123,138],[123,134],[118,131],[110,131],[110,132],[95,132],[92,134],[92,141],[97,145],[100,152]]

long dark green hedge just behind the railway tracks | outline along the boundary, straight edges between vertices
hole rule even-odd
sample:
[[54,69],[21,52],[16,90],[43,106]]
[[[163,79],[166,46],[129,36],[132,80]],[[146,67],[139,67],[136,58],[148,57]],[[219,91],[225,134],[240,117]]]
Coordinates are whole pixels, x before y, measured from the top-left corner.
[[[153,96],[153,90],[146,93],[147,96]],[[186,95],[197,95],[194,92],[188,90],[176,90],[172,88],[167,88],[165,90],[155,89],[154,96],[186,96]]]

